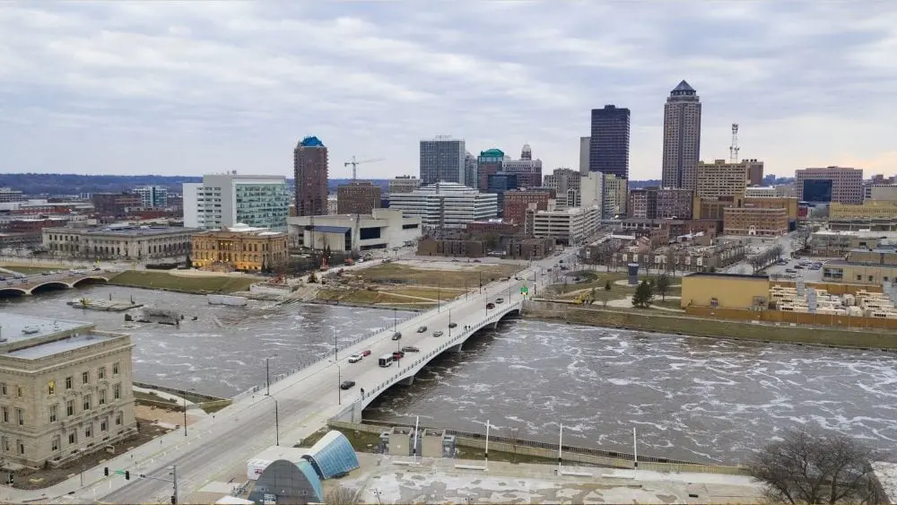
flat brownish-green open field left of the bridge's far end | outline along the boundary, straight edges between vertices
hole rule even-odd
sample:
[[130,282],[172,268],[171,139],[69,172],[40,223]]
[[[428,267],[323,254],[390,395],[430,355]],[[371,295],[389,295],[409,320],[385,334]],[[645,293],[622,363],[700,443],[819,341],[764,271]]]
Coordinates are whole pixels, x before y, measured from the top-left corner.
[[513,276],[521,270],[521,267],[517,265],[468,265],[455,263],[452,266],[455,268],[429,269],[386,263],[363,268],[357,272],[357,275],[370,283],[403,283],[421,286],[438,286],[441,284],[443,287],[461,289],[464,289],[466,285],[468,288],[473,289],[480,285],[481,275],[483,284],[487,284]]

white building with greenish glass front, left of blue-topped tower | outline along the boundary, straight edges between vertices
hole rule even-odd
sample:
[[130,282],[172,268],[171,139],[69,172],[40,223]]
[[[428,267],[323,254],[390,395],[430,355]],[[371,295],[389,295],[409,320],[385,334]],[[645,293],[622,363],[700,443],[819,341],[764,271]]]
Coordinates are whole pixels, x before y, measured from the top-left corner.
[[283,176],[238,175],[236,171],[203,176],[184,184],[184,226],[205,230],[238,222],[286,231],[290,192]]

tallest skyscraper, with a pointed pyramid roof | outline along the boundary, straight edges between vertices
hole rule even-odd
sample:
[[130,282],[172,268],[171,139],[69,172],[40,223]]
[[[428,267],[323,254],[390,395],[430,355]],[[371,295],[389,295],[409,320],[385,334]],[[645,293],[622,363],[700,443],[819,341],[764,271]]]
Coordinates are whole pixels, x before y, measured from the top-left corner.
[[696,189],[700,157],[701,98],[683,81],[664,106],[663,187]]

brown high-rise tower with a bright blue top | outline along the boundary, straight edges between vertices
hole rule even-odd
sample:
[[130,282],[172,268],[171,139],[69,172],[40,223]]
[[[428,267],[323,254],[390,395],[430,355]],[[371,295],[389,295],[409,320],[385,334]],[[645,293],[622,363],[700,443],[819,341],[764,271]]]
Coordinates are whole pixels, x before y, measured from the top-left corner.
[[296,215],[327,214],[327,147],[316,136],[303,138],[293,151]]

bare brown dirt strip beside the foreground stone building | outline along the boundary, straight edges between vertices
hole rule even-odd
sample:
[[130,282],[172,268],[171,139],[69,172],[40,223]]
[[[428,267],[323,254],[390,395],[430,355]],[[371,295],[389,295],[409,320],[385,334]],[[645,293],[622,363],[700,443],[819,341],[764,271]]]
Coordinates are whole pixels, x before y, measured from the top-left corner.
[[[139,407],[137,414],[138,432],[135,436],[126,440],[121,440],[115,445],[118,454],[143,445],[144,443],[170,431],[153,424],[151,420],[141,418]],[[183,422],[183,418],[181,418],[181,422]],[[13,487],[16,489],[43,489],[53,484],[61,483],[69,477],[78,475],[82,468],[91,468],[100,465],[103,461],[106,461],[109,457],[113,456],[114,455],[111,455],[104,450],[98,450],[58,468],[51,468],[48,470],[17,470],[15,472],[15,484]]]

